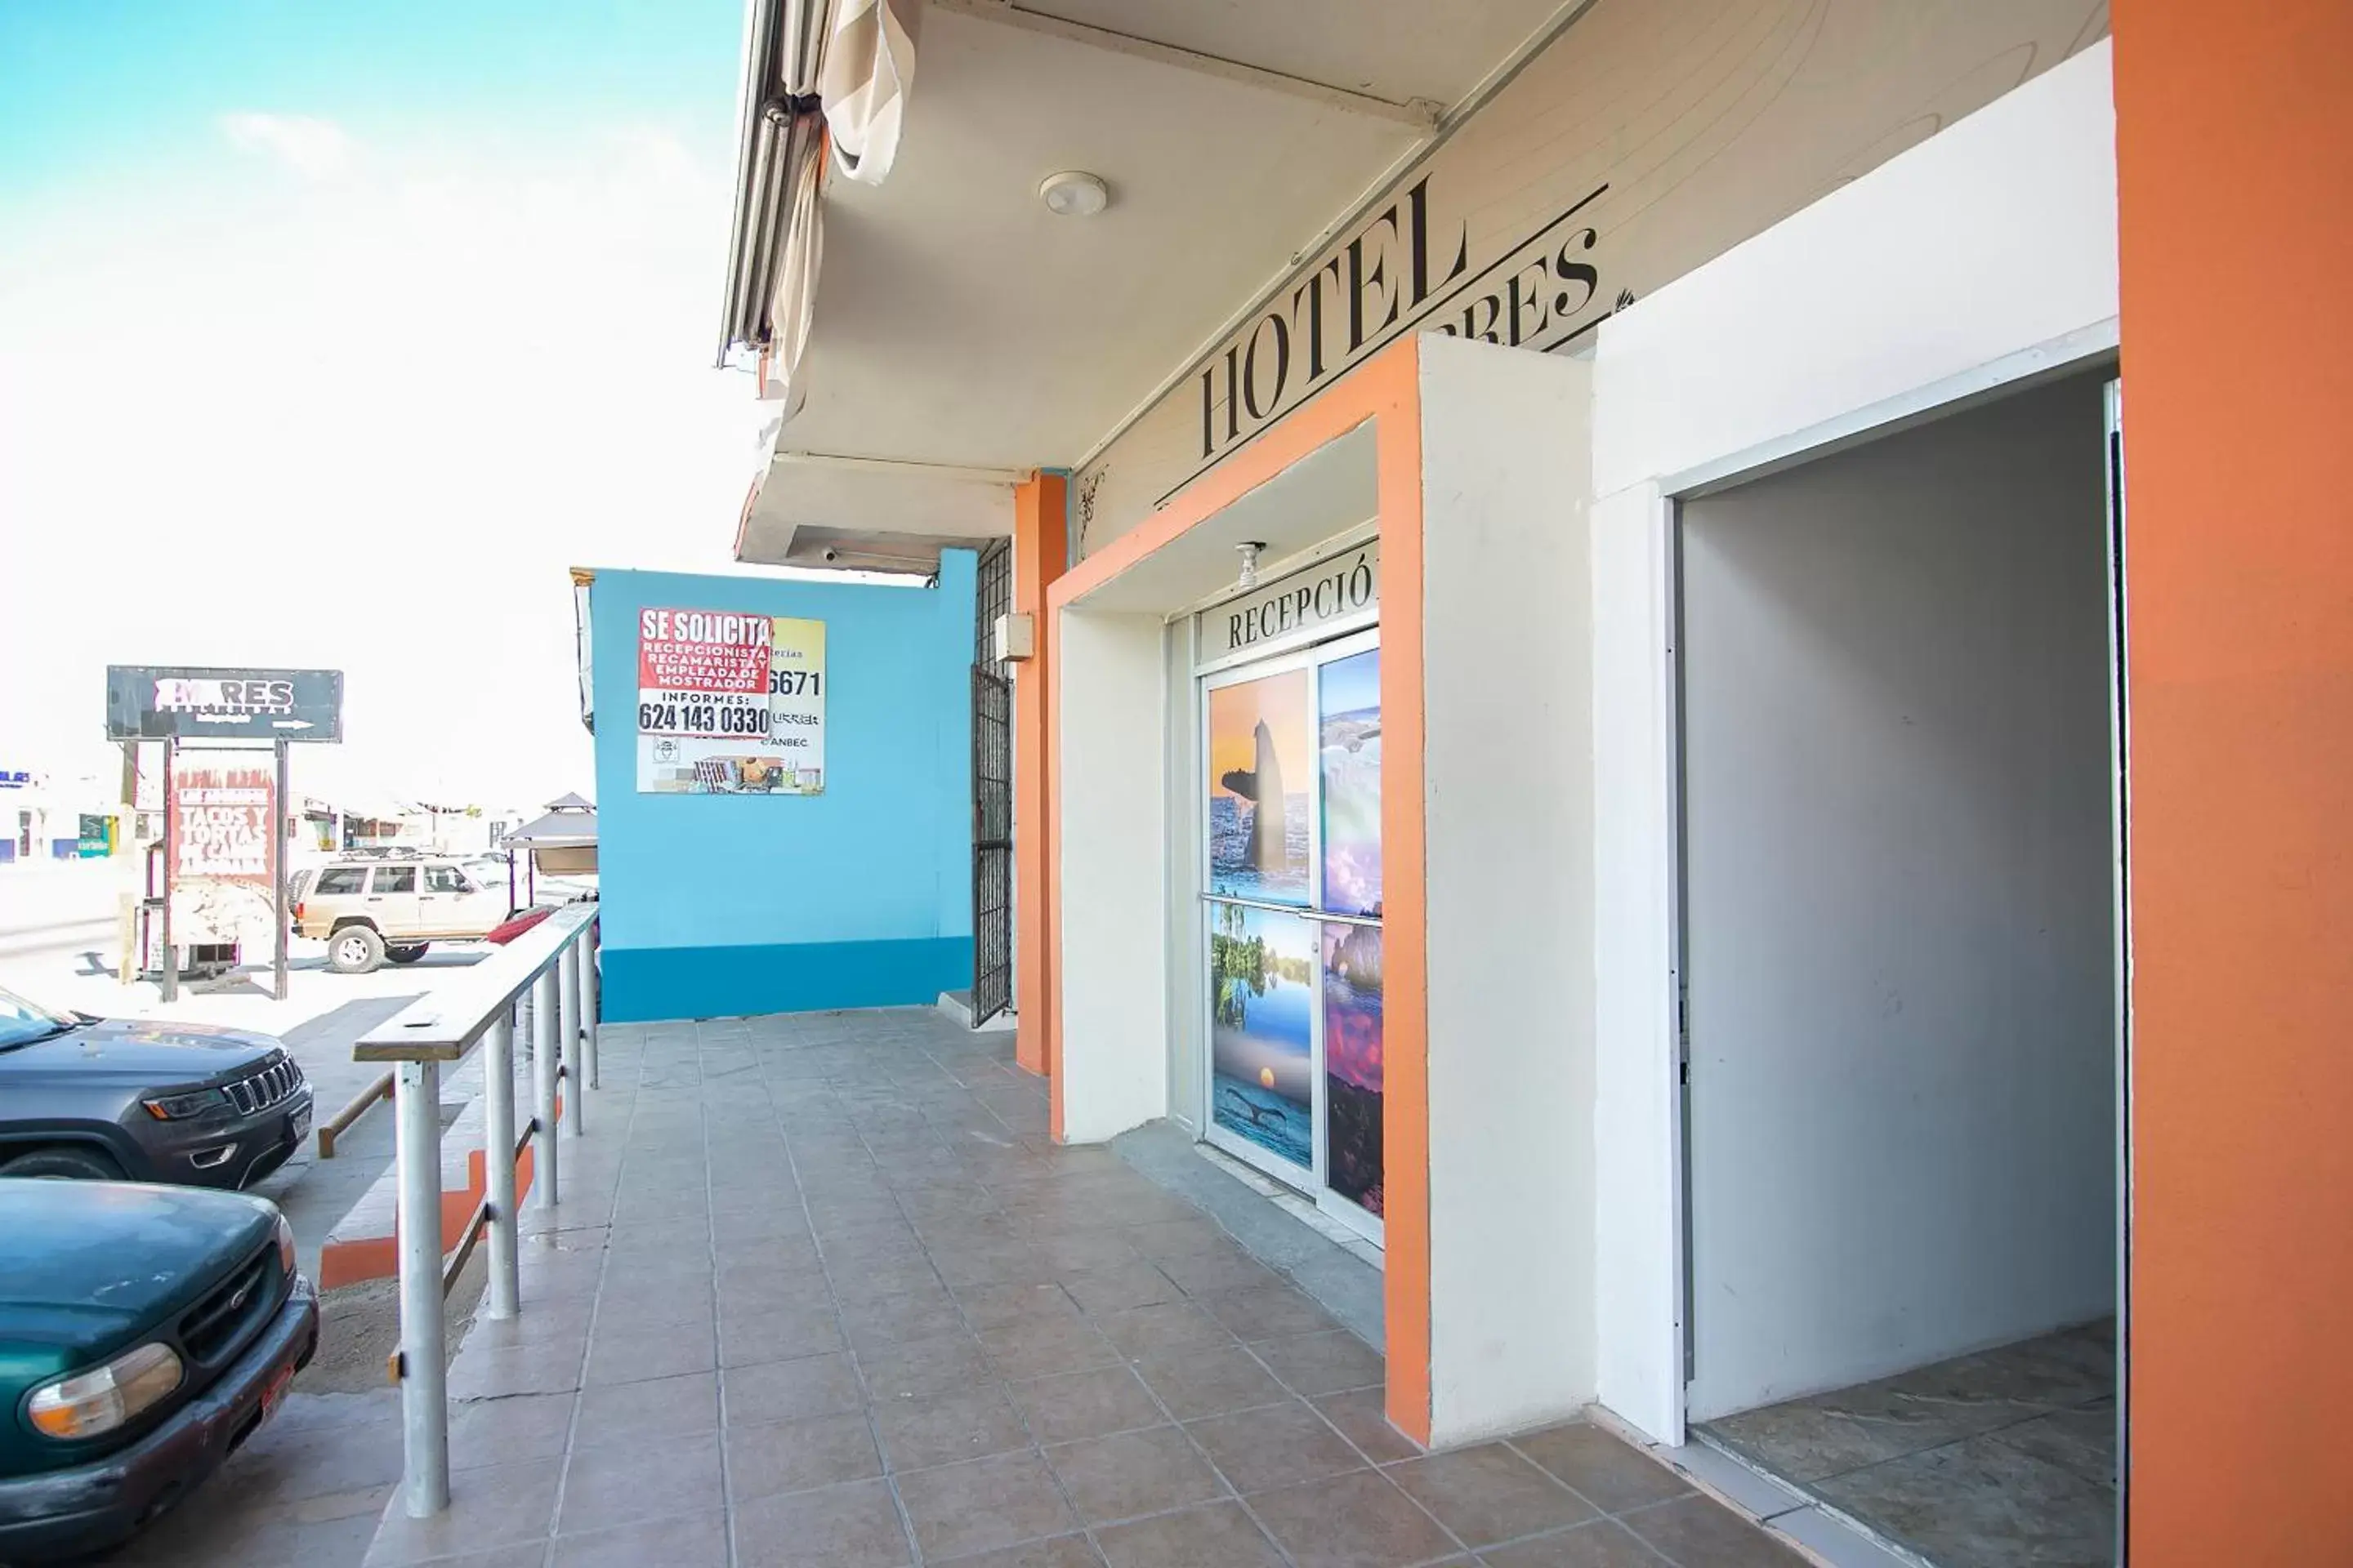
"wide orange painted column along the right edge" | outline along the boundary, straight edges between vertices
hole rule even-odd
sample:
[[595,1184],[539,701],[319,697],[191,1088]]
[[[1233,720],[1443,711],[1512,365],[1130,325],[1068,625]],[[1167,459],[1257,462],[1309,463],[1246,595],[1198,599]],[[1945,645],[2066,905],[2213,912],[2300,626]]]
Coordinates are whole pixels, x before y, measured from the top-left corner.
[[2134,1568],[2353,1563],[2353,5],[2115,5]]

